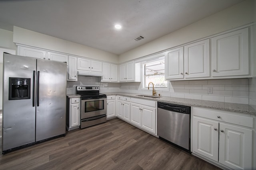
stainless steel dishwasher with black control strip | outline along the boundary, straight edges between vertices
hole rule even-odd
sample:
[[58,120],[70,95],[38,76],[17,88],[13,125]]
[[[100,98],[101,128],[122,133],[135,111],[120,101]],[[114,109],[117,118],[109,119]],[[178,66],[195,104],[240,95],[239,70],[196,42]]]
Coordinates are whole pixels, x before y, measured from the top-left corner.
[[157,121],[159,139],[190,152],[190,106],[158,102]]

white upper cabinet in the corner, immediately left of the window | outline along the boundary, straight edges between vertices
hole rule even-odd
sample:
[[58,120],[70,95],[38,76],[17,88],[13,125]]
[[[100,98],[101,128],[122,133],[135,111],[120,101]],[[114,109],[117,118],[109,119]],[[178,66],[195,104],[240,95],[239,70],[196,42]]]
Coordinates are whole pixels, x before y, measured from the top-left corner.
[[119,81],[120,82],[140,82],[141,81],[140,63],[130,61],[119,65]]

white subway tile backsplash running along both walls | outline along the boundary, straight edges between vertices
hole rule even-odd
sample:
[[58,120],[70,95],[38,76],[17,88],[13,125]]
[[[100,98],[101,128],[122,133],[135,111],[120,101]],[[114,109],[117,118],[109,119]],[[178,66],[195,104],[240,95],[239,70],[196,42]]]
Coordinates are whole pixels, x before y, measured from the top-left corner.
[[[157,93],[161,96],[239,104],[249,104],[250,100],[250,105],[256,106],[256,78],[185,80],[170,81],[169,83],[170,89],[168,91],[157,90]],[[75,87],[79,85],[98,85],[100,86],[101,93],[128,92],[136,94],[152,94],[152,90],[143,90],[141,88],[142,83],[140,82],[100,82],[100,78],[89,76],[78,76],[77,82],[68,81],[67,94],[74,94]],[[212,88],[212,93],[208,93],[208,88]]]

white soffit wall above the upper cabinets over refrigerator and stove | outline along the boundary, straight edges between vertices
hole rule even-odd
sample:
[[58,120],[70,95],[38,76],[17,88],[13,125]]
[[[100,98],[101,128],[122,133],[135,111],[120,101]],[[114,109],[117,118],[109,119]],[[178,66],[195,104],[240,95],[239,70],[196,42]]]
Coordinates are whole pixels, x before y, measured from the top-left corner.
[[13,42],[111,63],[118,62],[115,54],[16,26],[13,28]]

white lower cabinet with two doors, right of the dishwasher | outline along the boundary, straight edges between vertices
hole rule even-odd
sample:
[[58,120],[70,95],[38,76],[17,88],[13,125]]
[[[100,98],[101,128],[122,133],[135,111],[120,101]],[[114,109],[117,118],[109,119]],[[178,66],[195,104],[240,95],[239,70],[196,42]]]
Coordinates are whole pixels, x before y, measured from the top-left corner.
[[249,116],[194,107],[192,152],[228,168],[253,169],[253,119]]

